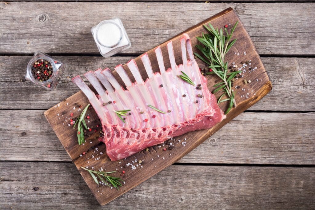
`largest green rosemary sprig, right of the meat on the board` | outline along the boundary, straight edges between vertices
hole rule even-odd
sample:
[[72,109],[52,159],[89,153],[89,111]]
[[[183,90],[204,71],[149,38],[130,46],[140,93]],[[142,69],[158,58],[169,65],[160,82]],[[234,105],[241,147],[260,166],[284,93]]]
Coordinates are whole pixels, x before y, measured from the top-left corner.
[[[238,21],[233,26],[230,34],[225,28],[226,36],[223,35],[222,29],[220,29],[219,31],[218,28],[215,29],[210,23],[210,28],[205,25],[204,27],[209,31],[209,33],[203,34],[201,37],[197,37],[198,41],[202,43],[203,46],[196,45],[196,47],[202,52],[204,57],[199,55],[198,53],[194,53],[200,60],[207,63],[209,65],[209,68],[212,69],[212,71],[207,72],[206,74],[215,74],[223,81],[213,86],[217,88],[212,93],[214,94],[223,89],[224,93],[219,97],[218,104],[230,100],[228,109],[226,110],[225,114],[229,113],[233,105],[236,107],[236,102],[234,99],[235,94],[232,91],[231,86],[232,79],[241,72],[233,71],[231,73],[228,73],[228,62],[224,62],[226,53],[236,42],[236,39],[231,41],[231,38],[237,24]],[[221,100],[226,94],[228,98]]]

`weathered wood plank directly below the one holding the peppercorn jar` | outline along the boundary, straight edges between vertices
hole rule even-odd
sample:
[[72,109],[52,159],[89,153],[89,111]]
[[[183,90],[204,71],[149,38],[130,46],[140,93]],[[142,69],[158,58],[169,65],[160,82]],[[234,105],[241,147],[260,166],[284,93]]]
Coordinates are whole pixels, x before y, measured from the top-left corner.
[[[1,111],[0,161],[71,161],[43,112]],[[314,164],[314,124],[314,112],[242,113],[178,162]]]

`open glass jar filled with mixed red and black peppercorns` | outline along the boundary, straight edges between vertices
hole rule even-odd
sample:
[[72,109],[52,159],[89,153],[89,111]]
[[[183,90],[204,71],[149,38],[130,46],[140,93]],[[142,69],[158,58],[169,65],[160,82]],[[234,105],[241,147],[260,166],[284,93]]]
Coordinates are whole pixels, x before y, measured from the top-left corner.
[[53,90],[65,69],[65,63],[38,51],[27,65],[25,78],[38,86]]

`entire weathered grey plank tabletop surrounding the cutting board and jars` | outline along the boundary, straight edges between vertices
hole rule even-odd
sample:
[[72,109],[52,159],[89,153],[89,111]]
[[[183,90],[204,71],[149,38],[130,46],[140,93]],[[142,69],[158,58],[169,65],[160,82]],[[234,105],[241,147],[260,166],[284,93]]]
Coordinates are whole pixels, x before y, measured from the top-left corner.
[[[0,2],[0,208],[315,208],[315,3],[229,2]],[[43,112],[78,91],[73,76],[125,63],[228,7],[261,54],[272,91],[180,161],[100,206]],[[90,28],[113,16],[132,47],[104,59]],[[36,50],[68,64],[53,92],[22,82]]]

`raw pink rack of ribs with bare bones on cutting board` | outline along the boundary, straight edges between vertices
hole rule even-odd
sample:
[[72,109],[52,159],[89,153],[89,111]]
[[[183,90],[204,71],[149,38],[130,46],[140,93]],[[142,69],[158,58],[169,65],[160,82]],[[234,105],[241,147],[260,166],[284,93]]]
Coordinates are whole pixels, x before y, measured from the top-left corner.
[[[84,74],[97,95],[80,76],[72,79],[88,97],[100,118],[104,131],[104,137],[100,138],[100,141],[106,144],[106,153],[112,161],[131,156],[171,137],[211,128],[226,117],[217,105],[215,96],[207,88],[206,77],[199,71],[187,34],[180,39],[180,43],[183,61],[180,65],[175,63],[172,42],[167,44],[171,64],[168,70],[165,70],[160,47],[155,49],[160,72],[153,73],[146,53],[141,56],[148,76],[145,82],[135,60],[127,63],[135,83],[131,82],[122,65],[116,66],[115,70],[127,90],[117,82],[108,68]],[[189,60],[186,58],[186,45]],[[182,74],[181,71],[189,76],[195,86],[178,77]],[[108,103],[109,101],[113,103]],[[165,113],[158,112],[148,105]],[[125,123],[115,113],[120,110],[130,110],[127,116],[122,116],[125,117]]]

